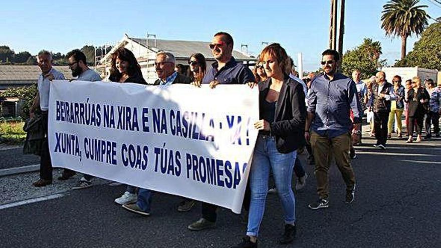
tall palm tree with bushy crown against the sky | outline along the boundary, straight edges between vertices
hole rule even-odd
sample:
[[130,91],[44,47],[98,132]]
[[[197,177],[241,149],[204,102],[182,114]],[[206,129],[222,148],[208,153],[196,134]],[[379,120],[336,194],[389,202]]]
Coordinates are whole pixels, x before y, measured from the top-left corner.
[[427,27],[429,15],[422,10],[426,5],[416,6],[419,0],[390,0],[383,6],[381,28],[386,36],[401,37],[401,60],[406,56],[407,37],[419,36]]

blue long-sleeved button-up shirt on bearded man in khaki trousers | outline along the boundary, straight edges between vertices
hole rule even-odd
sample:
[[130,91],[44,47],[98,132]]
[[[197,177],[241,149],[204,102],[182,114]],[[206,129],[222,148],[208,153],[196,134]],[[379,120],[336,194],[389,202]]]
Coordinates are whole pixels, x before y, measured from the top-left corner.
[[308,112],[315,114],[311,126],[314,132],[329,138],[349,132],[353,127],[351,109],[354,123],[360,123],[362,111],[357,87],[349,77],[336,73],[332,80],[321,75],[312,81]]

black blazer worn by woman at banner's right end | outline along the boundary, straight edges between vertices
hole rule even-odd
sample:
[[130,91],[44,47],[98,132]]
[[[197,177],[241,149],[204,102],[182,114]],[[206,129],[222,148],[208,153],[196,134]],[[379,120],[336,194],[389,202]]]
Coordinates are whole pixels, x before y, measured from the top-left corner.
[[[262,119],[262,104],[266,101],[271,78],[259,84],[259,109]],[[303,86],[285,75],[276,104],[276,114],[271,126],[271,135],[276,139],[277,150],[289,153],[305,144],[306,105]]]

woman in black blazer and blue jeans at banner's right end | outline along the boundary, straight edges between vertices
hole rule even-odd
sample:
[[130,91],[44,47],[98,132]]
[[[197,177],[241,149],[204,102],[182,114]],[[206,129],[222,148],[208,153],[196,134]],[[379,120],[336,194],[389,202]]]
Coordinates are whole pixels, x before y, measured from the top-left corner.
[[250,169],[248,230],[243,241],[234,247],[257,247],[270,170],[284,210],[285,232],[279,242],[291,243],[296,234],[296,204],[291,179],[296,150],[304,144],[305,93],[302,85],[289,77],[289,58],[280,44],[267,46],[260,58],[268,79],[259,84],[261,120],[254,124],[259,135]]

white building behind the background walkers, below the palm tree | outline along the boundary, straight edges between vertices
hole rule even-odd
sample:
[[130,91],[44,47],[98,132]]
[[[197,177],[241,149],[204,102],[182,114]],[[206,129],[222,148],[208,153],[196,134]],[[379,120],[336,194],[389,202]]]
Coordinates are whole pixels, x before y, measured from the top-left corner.
[[382,71],[386,74],[387,82],[391,83],[392,78],[395,75],[398,75],[402,79],[402,84],[407,79],[412,79],[413,77],[419,77],[422,81],[425,79],[431,78],[433,82],[437,82],[438,79],[438,71],[423,69],[419,67],[385,67],[382,68]]

